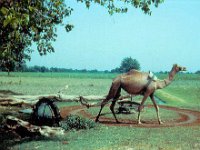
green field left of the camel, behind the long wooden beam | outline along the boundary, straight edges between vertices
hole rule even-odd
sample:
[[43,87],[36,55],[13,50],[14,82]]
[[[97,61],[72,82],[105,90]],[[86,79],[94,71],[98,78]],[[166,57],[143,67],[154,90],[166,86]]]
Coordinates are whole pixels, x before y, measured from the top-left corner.
[[[42,73],[39,73],[42,74]],[[21,75],[21,76],[19,76]],[[32,75],[32,76],[31,76]],[[69,77],[68,73],[55,73],[53,77],[49,73],[38,75],[38,73],[16,73],[10,77],[0,76],[0,90],[11,90],[23,94],[52,94],[57,93],[66,85],[69,86],[64,94],[70,95],[101,95],[106,94],[111,84],[111,76],[105,74],[104,79],[101,78],[103,74],[76,74],[76,76]],[[87,76],[87,78],[86,78]],[[97,78],[99,77],[99,78]],[[106,88],[105,88],[106,87]]]

